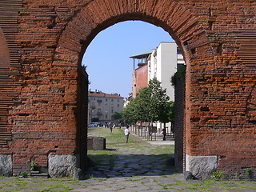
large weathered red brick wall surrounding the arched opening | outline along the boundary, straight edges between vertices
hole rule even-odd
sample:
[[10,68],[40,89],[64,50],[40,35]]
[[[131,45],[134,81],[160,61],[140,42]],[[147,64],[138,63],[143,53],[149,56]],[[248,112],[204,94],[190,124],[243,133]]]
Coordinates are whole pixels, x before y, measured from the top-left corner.
[[14,174],[30,158],[47,166],[50,153],[77,154],[82,54],[106,27],[142,20],[169,32],[186,58],[186,154],[217,155],[227,172],[255,171],[255,6],[242,0],[0,2],[10,50],[10,68],[0,70],[1,129],[12,139],[0,143],[0,154],[13,154]]

